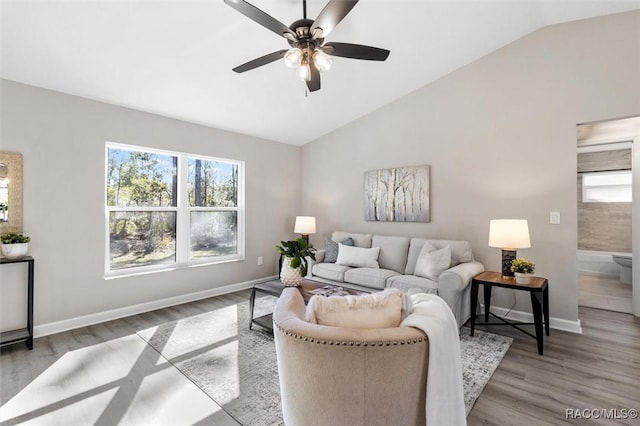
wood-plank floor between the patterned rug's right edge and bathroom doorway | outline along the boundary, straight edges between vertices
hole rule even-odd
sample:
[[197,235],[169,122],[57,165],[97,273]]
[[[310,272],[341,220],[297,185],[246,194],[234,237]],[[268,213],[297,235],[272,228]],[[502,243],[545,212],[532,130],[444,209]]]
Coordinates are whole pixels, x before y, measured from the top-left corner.
[[[468,417],[469,425],[638,425],[638,419],[568,420],[567,409],[640,409],[640,318],[580,307],[582,334],[551,329],[544,355],[515,340]],[[482,327],[479,327],[482,328]]]

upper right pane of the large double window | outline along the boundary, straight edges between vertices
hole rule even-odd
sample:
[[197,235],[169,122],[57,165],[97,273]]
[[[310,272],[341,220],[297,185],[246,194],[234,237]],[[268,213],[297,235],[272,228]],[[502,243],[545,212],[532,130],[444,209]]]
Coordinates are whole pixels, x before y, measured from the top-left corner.
[[190,207],[236,207],[238,165],[189,158],[187,182]]

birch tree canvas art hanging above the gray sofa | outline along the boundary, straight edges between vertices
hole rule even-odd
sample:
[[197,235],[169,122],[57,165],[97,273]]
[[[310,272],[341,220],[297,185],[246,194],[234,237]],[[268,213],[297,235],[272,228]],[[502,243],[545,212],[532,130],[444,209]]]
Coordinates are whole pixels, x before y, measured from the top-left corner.
[[430,222],[429,166],[367,171],[364,198],[365,220]]

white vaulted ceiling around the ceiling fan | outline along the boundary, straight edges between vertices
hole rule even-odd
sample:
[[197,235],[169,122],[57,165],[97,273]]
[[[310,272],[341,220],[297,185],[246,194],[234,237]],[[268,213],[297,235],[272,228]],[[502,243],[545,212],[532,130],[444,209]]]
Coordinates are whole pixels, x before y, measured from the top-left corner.
[[[302,0],[249,0],[291,24]],[[309,0],[314,18],[328,0]],[[281,62],[231,69],[284,38],[223,0],[1,0],[0,76],[303,145],[545,25],[640,9],[640,0],[361,0],[329,35],[391,50],[335,58],[322,89]]]

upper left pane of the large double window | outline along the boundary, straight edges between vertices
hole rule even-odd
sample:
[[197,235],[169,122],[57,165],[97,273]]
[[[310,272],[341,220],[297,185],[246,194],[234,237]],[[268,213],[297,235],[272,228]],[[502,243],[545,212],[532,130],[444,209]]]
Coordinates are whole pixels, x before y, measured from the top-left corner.
[[175,206],[178,157],[109,148],[108,206]]

